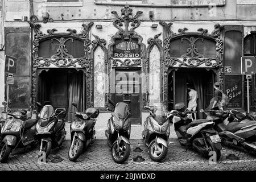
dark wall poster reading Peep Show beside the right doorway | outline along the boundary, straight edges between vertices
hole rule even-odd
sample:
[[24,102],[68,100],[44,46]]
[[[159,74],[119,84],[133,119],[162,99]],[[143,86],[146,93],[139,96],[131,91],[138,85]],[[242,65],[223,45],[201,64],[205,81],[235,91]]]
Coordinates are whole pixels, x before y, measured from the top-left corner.
[[225,75],[224,93],[229,97],[229,108],[242,108],[242,75]]

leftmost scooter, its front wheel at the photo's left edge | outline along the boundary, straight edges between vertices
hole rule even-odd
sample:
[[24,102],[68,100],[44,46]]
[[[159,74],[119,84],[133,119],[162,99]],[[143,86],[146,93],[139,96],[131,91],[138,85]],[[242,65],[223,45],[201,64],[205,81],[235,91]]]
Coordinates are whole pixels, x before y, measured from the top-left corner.
[[4,143],[0,152],[0,162],[5,163],[11,151],[16,147],[26,147],[29,144],[36,144],[35,124],[36,119],[26,120],[26,110],[8,113],[12,118],[7,119],[2,127],[1,137]]

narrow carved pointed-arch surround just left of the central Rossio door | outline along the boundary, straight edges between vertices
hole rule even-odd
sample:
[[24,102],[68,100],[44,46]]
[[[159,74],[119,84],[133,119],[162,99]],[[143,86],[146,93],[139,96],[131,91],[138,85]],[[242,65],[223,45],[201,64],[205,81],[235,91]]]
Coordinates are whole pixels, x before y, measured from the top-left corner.
[[[93,35],[93,34],[92,34]],[[92,49],[90,52],[92,52],[92,58],[91,58],[91,67],[93,68],[93,73],[94,73],[94,52],[96,51],[96,49],[98,47],[100,47],[102,49],[102,51],[104,51],[104,69],[105,69],[105,74],[108,74],[108,78],[105,78],[105,79],[109,79],[110,78],[110,70],[109,70],[109,67],[111,67],[111,63],[109,63],[108,61],[108,49],[106,48],[106,40],[105,39],[100,39],[97,35],[93,35],[95,40],[92,41]],[[94,77],[93,77],[93,81],[92,81],[93,85],[92,85],[92,90],[91,90],[91,93],[92,93],[92,96],[94,97]],[[109,90],[109,93],[110,93],[110,90]],[[110,96],[108,93],[105,93],[105,109],[108,108],[109,104],[108,104],[108,101],[110,99]],[[92,107],[93,107],[93,101],[94,99],[92,98]]]

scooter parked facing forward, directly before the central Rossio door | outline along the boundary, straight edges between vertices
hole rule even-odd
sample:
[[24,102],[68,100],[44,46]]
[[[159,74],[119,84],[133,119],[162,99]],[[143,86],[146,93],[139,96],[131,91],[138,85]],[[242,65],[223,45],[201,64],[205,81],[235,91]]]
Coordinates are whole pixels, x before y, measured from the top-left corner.
[[[108,138],[108,145],[111,147],[112,158],[116,163],[125,162],[130,155],[130,134],[131,134],[131,112],[129,105],[125,102],[118,102],[114,105],[113,101],[109,101],[114,106],[114,112],[108,120],[105,135]],[[112,110],[113,111],[113,110]]]

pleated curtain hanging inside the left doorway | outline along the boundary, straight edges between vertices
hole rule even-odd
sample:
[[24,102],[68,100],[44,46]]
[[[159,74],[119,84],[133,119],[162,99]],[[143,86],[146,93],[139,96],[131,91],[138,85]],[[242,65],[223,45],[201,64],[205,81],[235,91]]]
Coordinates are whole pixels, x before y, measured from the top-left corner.
[[83,108],[83,101],[84,96],[82,93],[83,88],[83,79],[82,79],[82,72],[71,72],[68,73],[68,90],[69,90],[69,97],[68,97],[68,122],[73,120],[73,114],[69,112],[76,112],[76,108],[72,106],[72,102],[76,102],[79,111],[84,111]]

